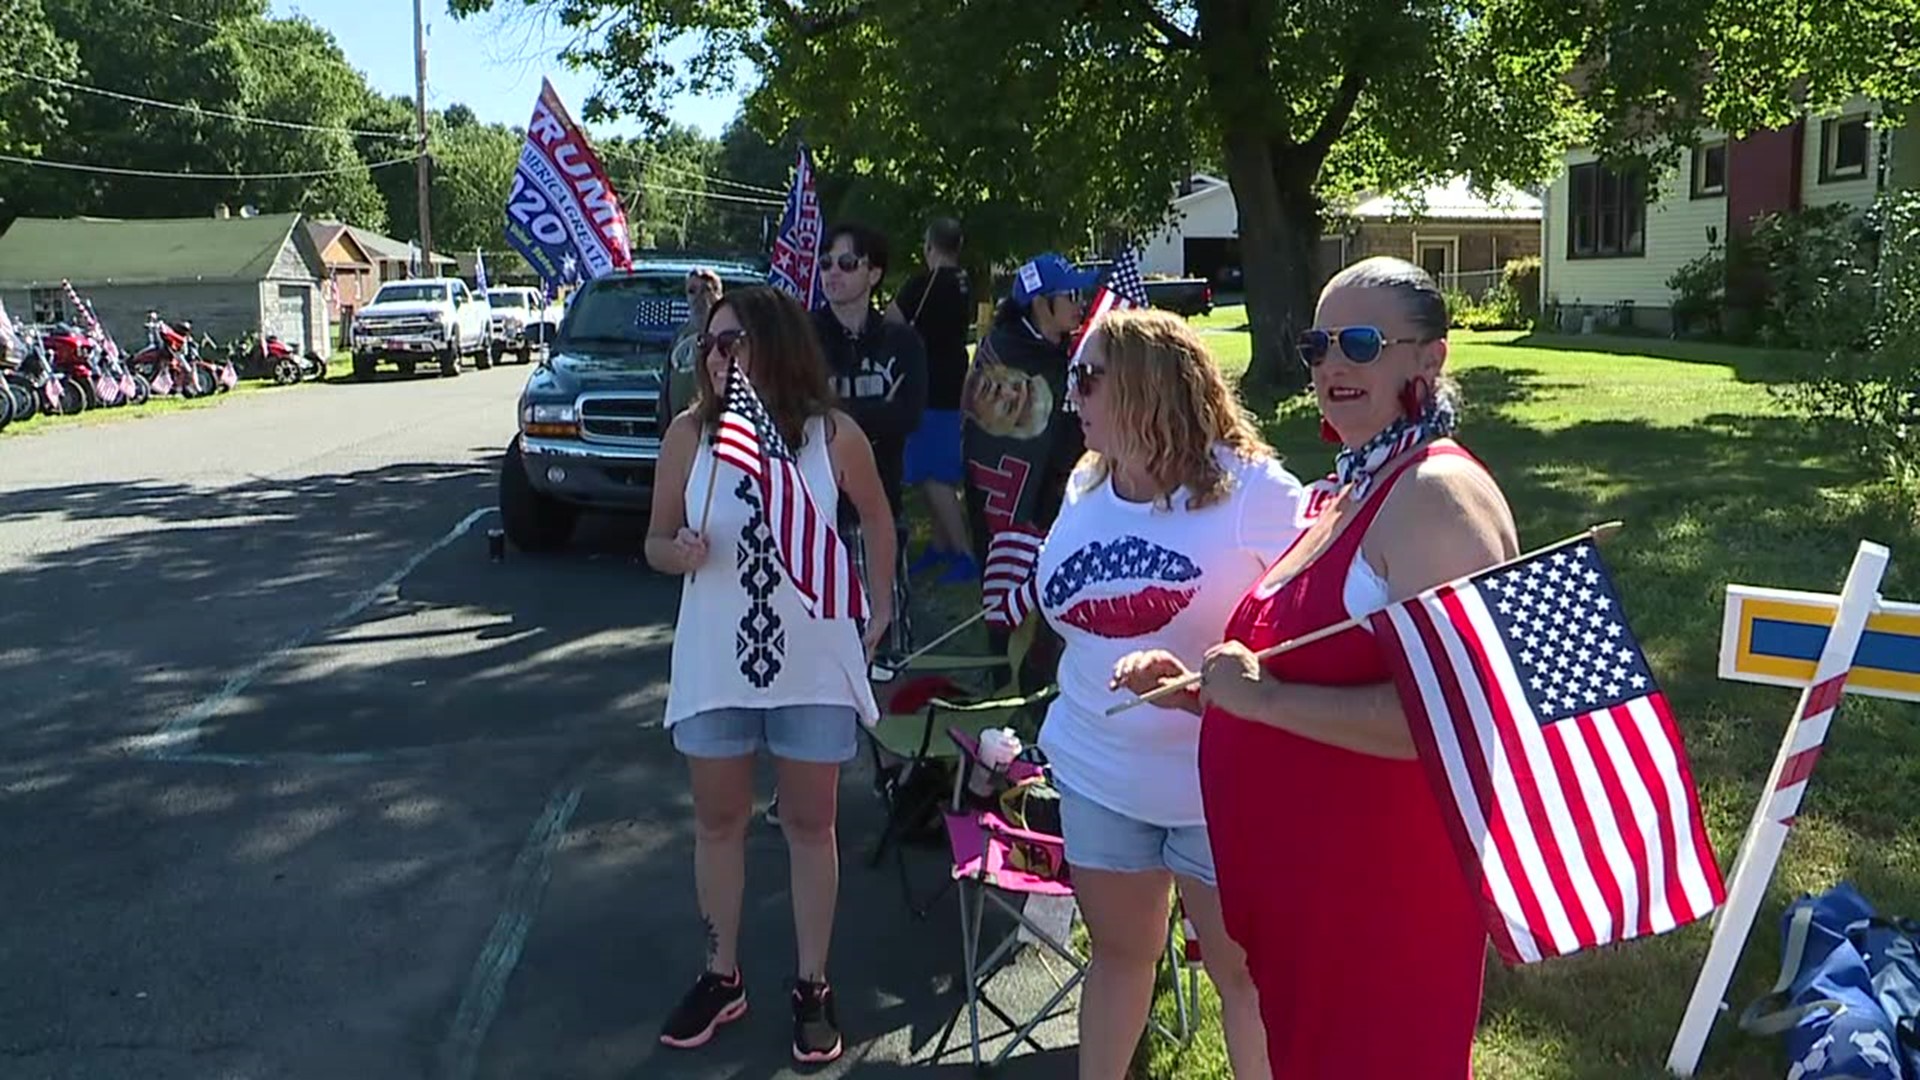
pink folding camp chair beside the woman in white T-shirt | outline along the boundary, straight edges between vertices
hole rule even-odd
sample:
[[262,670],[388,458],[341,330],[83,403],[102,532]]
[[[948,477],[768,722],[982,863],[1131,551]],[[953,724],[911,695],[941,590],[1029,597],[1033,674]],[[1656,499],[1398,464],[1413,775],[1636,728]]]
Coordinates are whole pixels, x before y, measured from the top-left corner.
[[[981,1070],[998,1067],[1020,1043],[1043,1049],[1033,1038],[1033,1032],[1046,1020],[1066,1015],[1060,1011],[1060,1005],[1073,992],[1073,988],[1087,978],[1087,959],[1081,957],[1071,944],[1071,919],[1068,920],[1066,934],[1058,934],[1039,924],[1027,913],[1027,905],[1035,903],[1037,897],[1041,901],[1071,901],[1073,882],[1071,867],[1066,861],[1064,840],[1046,832],[1020,828],[998,813],[996,803],[983,803],[972,798],[966,788],[966,778],[975,767],[983,767],[979,759],[979,738],[960,728],[948,728],[947,734],[960,755],[952,798],[943,811],[948,847],[952,853],[948,888],[956,888],[960,894],[960,947],[966,969],[968,1042],[973,1055],[973,1068]],[[1004,788],[1006,784],[1020,784],[1035,778],[1043,773],[1043,769],[1016,759],[995,773],[1000,780],[998,786]],[[945,890],[941,892],[945,894]],[[983,944],[983,924],[989,901],[1000,913],[1010,915],[1016,926],[985,959],[981,959],[979,949]],[[1175,944],[1175,920],[1185,922],[1185,913],[1179,907],[1173,909],[1173,917],[1167,920],[1164,953],[1173,974],[1179,1030],[1169,1030],[1158,1019],[1152,1019],[1150,1024],[1156,1034],[1175,1043],[1185,1043],[1192,1036],[1192,1011],[1198,1007],[1200,965],[1196,951],[1183,953]],[[1192,940],[1190,928],[1187,930],[1187,936]],[[1002,1009],[987,992],[987,986],[995,980],[995,976],[1012,963],[1021,938],[1041,944],[1071,969],[1071,974],[1066,978],[1054,976],[1054,994],[1025,1022],[1014,1020],[1014,1017],[1010,1017],[1006,1009]],[[1048,972],[1052,972],[1052,967],[1048,967]],[[1010,1034],[1006,1045],[1002,1045],[993,1061],[985,1065],[981,1063],[981,1007],[998,1017]],[[939,1045],[933,1049],[933,1061],[939,1061],[941,1053],[945,1053],[958,1022],[960,1017],[954,1015],[952,1022],[948,1022],[947,1030],[941,1034]]]

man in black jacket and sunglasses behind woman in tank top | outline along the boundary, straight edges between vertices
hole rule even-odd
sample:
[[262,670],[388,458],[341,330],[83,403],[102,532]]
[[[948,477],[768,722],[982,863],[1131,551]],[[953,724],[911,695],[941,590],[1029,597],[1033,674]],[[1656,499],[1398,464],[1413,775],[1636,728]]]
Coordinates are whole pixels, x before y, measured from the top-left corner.
[[[874,306],[874,288],[887,275],[887,238],[864,225],[835,225],[826,236],[820,284],[828,307],[814,311],[814,329],[828,357],[828,375],[841,409],[874,444],[879,480],[900,530],[893,580],[893,625],[883,651],[912,651],[906,605],[906,517],[900,502],[906,436],[927,407],[927,350],[912,327],[891,323]],[[845,502],[843,502],[845,507]],[[858,515],[841,513],[841,534],[858,534]],[[854,553],[864,553],[858,544]]]

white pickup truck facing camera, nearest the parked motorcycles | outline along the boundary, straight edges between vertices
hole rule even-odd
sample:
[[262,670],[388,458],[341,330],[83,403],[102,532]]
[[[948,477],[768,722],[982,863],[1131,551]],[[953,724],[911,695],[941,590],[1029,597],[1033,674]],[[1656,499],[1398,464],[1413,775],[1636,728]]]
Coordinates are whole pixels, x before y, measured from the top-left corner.
[[382,361],[401,375],[413,375],[420,361],[438,361],[440,373],[453,377],[463,356],[486,371],[493,365],[492,321],[486,296],[468,292],[457,277],[390,281],[372,304],[353,313],[353,377],[371,379]]

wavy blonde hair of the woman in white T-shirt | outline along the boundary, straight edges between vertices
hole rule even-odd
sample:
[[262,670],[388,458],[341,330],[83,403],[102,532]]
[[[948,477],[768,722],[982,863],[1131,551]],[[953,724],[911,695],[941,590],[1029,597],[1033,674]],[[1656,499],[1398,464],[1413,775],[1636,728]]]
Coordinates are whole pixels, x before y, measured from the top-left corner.
[[[1273,457],[1254,419],[1221,377],[1213,354],[1185,319],[1158,309],[1117,309],[1100,317],[1089,350],[1098,348],[1114,450],[1139,459],[1154,482],[1154,503],[1169,505],[1187,488],[1187,505],[1227,496],[1233,477],[1215,455],[1227,446],[1242,461]],[[1087,486],[1112,473],[1104,454],[1081,459]]]

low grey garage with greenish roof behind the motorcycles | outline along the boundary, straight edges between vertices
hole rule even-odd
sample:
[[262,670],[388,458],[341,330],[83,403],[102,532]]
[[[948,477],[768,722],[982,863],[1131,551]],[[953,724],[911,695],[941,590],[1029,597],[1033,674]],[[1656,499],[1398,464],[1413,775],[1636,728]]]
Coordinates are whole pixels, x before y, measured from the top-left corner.
[[17,319],[75,319],[61,281],[86,296],[123,346],[146,344],[146,313],[192,319],[225,344],[278,334],[326,352],[324,267],[298,213],[259,217],[21,217],[0,234],[0,300]]

